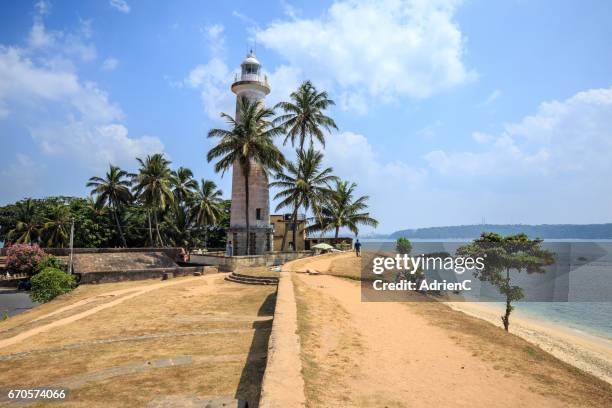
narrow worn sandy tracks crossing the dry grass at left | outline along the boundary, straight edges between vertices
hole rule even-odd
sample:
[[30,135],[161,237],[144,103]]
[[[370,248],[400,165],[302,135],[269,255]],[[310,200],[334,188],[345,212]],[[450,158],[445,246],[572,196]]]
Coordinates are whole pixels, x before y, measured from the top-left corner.
[[[117,306],[118,304],[121,304],[121,303],[125,302],[128,299],[132,299],[132,298],[134,298],[136,296],[140,296],[140,295],[145,294],[147,292],[151,292],[151,291],[156,290],[156,289],[167,288],[169,286],[173,286],[173,285],[177,285],[177,284],[181,284],[181,283],[187,283],[187,282],[194,281],[194,280],[202,280],[202,279],[203,279],[202,277],[193,277],[193,278],[187,278],[187,279],[177,279],[177,280],[163,281],[163,282],[156,283],[156,284],[153,284],[153,285],[151,285],[151,284],[140,285],[140,286],[131,287],[129,289],[120,289],[120,290],[105,292],[105,293],[96,295],[93,299],[84,299],[84,300],[75,302],[75,303],[73,303],[71,305],[62,307],[59,310],[53,311],[51,313],[48,313],[45,316],[38,317],[38,318],[34,319],[33,321],[37,321],[37,320],[40,320],[40,319],[42,319],[44,317],[52,316],[52,315],[55,315],[57,313],[70,311],[71,309],[83,306],[83,305],[85,305],[85,304],[87,304],[89,302],[92,302],[93,300],[99,300],[100,298],[107,297],[107,298],[109,298],[109,300],[113,299],[113,300],[110,300],[109,302],[97,305],[95,307],[92,307],[91,309],[87,309],[87,310],[85,310],[83,312],[76,313],[76,314],[74,314],[72,316],[68,316],[68,317],[65,317],[63,319],[55,320],[55,321],[53,321],[51,323],[47,323],[47,324],[43,324],[43,325],[34,327],[32,329],[23,331],[23,332],[15,335],[13,337],[2,339],[2,340],[0,340],[0,349],[4,348],[4,347],[11,346],[11,345],[16,344],[16,343],[19,343],[19,342],[21,342],[21,341],[23,341],[23,340],[25,340],[25,339],[27,339],[29,337],[35,336],[35,335],[37,335],[39,333],[46,332],[46,331],[51,330],[53,328],[64,326],[64,325],[76,322],[78,320],[84,319],[84,318],[86,318],[88,316],[91,316],[91,315],[93,315],[95,313],[98,313],[98,312],[100,312],[102,310],[105,310],[105,309],[108,309],[110,307]],[[116,296],[120,296],[120,295],[124,295],[124,296],[115,299]]]

